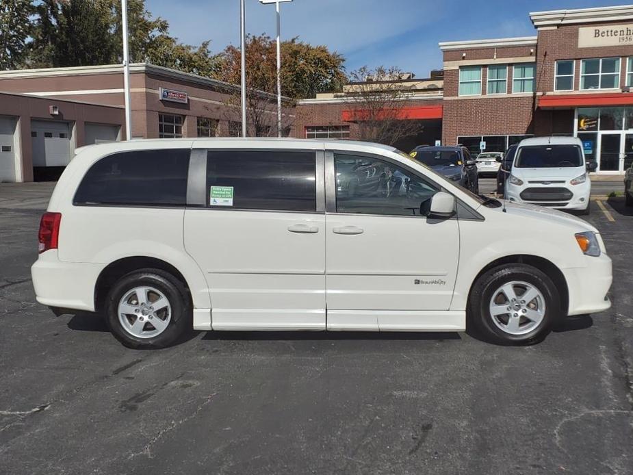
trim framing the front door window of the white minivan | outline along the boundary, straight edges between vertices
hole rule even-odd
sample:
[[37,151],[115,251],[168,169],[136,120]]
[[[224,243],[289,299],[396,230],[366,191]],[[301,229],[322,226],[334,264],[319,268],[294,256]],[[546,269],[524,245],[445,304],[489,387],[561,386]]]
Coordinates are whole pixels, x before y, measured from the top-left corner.
[[[344,213],[344,212],[337,211],[336,210],[336,172],[334,169],[334,155],[336,154],[355,155],[358,157],[374,158],[378,160],[383,160],[385,162],[389,162],[393,165],[404,168],[404,170],[407,170],[408,172],[413,173],[413,175],[416,175],[418,177],[425,179],[426,181],[434,185],[436,188],[439,188],[439,191],[452,194],[450,191],[446,190],[446,188],[443,188],[443,186],[441,186],[435,180],[431,179],[430,177],[426,175],[421,175],[417,170],[415,170],[415,168],[407,164],[404,164],[396,159],[393,159],[391,157],[387,157],[386,155],[380,155],[377,153],[370,153],[370,152],[352,151],[352,150],[326,149],[325,151],[326,215],[331,214],[333,216],[374,216],[374,217],[380,216],[383,218],[389,217],[389,218],[406,218],[406,219],[420,219],[420,218],[428,219],[428,216],[419,216],[419,215],[406,216],[402,214]],[[485,220],[485,218],[481,214],[479,214],[477,211],[475,211],[470,205],[467,205],[466,203],[464,203],[464,201],[458,198],[457,196],[455,195],[453,196],[455,198],[456,213],[454,214],[454,216],[449,218],[450,220],[455,220],[455,219],[469,220],[469,221],[471,220],[484,221]],[[475,218],[458,216],[459,207],[457,203],[461,203],[461,205],[465,207],[467,211],[469,211],[469,214],[472,214],[473,216],[475,216]]]

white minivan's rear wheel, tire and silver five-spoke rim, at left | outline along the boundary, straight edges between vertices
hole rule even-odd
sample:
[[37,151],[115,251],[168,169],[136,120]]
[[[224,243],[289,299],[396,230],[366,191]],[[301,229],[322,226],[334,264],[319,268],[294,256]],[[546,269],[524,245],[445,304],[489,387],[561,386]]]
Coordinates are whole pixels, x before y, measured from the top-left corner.
[[110,290],[107,325],[129,348],[164,348],[192,327],[190,299],[169,272],[142,269],[121,277]]

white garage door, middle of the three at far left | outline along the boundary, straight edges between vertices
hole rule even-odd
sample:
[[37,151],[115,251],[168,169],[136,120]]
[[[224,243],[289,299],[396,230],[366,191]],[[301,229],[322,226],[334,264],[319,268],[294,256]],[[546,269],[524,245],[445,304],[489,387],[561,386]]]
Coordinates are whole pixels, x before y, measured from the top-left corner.
[[31,121],[33,166],[66,166],[70,162],[68,123],[52,120]]

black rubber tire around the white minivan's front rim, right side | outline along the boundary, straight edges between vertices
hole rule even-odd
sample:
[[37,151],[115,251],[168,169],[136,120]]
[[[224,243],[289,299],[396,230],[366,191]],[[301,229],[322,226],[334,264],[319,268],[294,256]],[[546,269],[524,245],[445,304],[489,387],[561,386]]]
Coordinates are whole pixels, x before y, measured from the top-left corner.
[[[493,293],[504,283],[523,281],[541,292],[545,300],[543,320],[529,333],[513,335],[500,329],[491,316],[489,304]],[[504,304],[505,305],[505,304]],[[469,325],[487,342],[500,345],[529,345],[541,342],[562,320],[560,295],[550,277],[541,270],[526,264],[507,264],[488,270],[474,283],[468,301]]]

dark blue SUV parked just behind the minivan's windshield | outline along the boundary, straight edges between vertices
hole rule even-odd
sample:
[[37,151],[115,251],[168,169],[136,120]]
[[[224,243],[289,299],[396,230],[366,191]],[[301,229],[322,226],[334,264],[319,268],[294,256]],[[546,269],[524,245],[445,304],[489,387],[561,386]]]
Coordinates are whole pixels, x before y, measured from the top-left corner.
[[477,164],[471,159],[466,147],[417,146],[409,155],[446,179],[462,185],[475,194],[479,193]]

